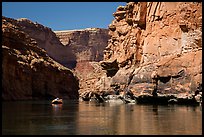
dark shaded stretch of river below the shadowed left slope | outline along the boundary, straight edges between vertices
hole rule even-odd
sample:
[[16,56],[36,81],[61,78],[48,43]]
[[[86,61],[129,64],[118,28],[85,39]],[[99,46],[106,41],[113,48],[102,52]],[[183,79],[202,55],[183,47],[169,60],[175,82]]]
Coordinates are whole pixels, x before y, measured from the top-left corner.
[[2,134],[75,134],[78,101],[52,106],[50,101],[3,102]]

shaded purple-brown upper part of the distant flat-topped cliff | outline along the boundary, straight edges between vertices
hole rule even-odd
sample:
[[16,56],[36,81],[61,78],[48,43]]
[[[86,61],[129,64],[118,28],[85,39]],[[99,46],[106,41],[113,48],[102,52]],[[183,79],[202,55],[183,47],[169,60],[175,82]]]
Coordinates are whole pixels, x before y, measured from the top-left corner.
[[108,43],[108,29],[55,31],[61,43],[72,50],[77,62],[101,61]]

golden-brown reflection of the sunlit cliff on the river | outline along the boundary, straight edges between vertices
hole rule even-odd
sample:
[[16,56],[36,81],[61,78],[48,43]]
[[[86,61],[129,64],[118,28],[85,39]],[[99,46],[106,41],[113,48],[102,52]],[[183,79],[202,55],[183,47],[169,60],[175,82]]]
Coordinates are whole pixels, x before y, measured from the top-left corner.
[[199,107],[161,105],[79,105],[78,131],[84,134],[201,134]]

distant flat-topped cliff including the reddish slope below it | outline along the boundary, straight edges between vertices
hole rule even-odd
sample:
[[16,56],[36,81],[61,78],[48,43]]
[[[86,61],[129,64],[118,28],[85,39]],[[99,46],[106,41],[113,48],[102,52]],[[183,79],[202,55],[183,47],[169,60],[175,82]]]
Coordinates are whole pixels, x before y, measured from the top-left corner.
[[[103,51],[108,44],[108,29],[87,28],[82,30],[55,31],[64,47],[76,56],[74,68],[79,77],[79,92],[99,90],[98,79],[106,76],[98,61],[103,60]],[[103,85],[102,88],[106,86]]]

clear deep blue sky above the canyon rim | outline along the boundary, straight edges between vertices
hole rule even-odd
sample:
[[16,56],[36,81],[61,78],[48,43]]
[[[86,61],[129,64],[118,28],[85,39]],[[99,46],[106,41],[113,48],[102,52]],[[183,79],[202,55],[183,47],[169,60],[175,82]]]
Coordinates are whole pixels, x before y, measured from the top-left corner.
[[2,15],[28,18],[55,30],[107,28],[126,2],[2,2]]

